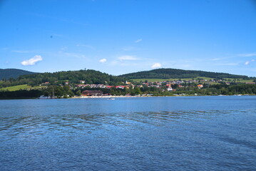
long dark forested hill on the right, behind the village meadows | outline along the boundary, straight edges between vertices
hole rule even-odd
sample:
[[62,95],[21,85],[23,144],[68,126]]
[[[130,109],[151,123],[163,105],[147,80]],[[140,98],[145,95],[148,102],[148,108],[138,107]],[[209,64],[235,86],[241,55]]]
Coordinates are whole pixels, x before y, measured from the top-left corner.
[[160,68],[151,71],[140,71],[137,73],[128,73],[121,75],[122,77],[130,79],[138,78],[196,78],[196,77],[210,77],[210,78],[243,78],[248,79],[248,76],[239,76],[229,73],[214,73],[206,71],[190,71],[190,70],[181,70],[181,69],[172,69],[172,68]]

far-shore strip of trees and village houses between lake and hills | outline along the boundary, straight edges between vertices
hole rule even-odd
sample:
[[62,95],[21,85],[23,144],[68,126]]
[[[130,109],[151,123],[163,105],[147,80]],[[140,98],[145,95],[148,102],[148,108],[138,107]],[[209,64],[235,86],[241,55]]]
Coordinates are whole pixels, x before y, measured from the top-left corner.
[[[80,85],[79,85],[80,86]],[[256,95],[256,84],[187,83],[183,81],[129,83],[127,86],[101,84],[56,86],[49,85],[29,90],[0,90],[0,99],[26,98],[98,98],[147,96],[197,96],[197,95]]]

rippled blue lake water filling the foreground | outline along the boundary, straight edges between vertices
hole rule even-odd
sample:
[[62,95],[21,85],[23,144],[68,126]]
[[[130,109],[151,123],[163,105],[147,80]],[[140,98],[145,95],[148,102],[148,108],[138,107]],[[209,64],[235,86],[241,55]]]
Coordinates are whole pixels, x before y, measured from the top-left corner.
[[256,170],[256,96],[0,100],[0,170]]

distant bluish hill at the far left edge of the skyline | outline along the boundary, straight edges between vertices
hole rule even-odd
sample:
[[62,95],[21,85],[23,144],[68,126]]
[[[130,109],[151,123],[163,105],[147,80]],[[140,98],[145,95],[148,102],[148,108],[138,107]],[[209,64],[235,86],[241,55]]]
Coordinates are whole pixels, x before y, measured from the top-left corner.
[[19,76],[28,75],[28,74],[35,74],[35,73],[30,71],[20,70],[20,69],[0,69],[0,80],[3,80],[3,79],[8,80],[9,78],[18,78]]

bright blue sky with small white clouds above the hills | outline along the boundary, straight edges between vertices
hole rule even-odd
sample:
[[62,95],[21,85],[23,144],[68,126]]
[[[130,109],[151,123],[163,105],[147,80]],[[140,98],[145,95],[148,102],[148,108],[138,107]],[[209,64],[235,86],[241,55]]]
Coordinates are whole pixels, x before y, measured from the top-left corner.
[[256,76],[253,0],[0,0],[0,68]]

